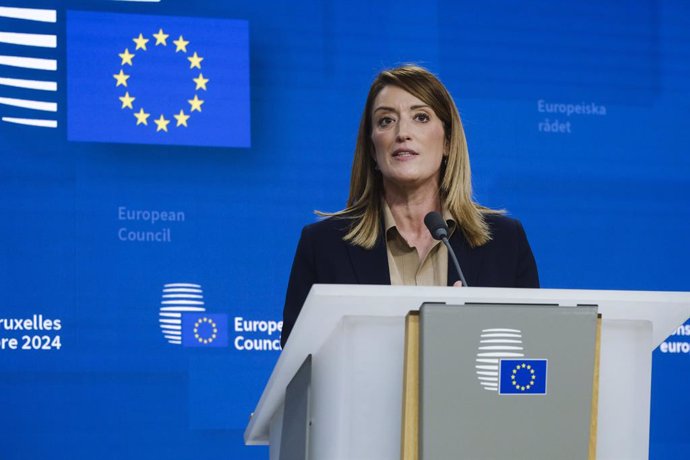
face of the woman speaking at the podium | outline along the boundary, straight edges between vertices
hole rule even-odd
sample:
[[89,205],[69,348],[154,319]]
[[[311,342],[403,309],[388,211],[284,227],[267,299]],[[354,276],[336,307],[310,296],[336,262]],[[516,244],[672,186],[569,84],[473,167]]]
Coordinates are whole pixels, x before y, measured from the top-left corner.
[[376,96],[371,117],[371,140],[384,186],[430,184],[438,189],[445,133],[431,107],[389,85]]

